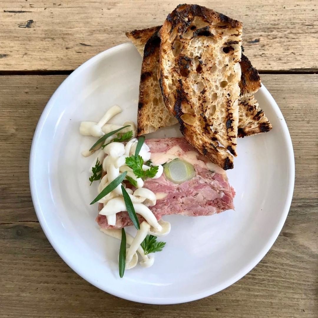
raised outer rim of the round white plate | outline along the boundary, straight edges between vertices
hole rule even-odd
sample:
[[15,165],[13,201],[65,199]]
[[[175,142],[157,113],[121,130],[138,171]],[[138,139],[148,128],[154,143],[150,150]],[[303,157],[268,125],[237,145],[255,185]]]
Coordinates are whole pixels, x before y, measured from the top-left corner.
[[[67,76],[66,79],[62,81],[62,83],[59,85],[59,87],[56,89],[56,91],[53,93],[51,98],[48,100],[47,104],[45,105],[43,112],[39,118],[37,127],[35,129],[32,144],[31,144],[31,151],[30,151],[30,161],[29,161],[29,182],[30,182],[30,190],[31,190],[31,197],[32,202],[34,206],[34,210],[36,212],[37,218],[39,220],[40,226],[45,233],[46,238],[54,248],[54,250],[58,253],[58,255],[63,259],[63,261],[79,276],[81,276],[83,279],[88,281],[93,286],[109,293],[117,297],[121,297],[123,299],[129,300],[129,301],[135,301],[139,303],[148,303],[148,304],[157,304],[157,305],[166,305],[166,304],[179,304],[179,303],[185,303],[189,301],[195,301],[207,296],[210,296],[212,294],[218,293],[219,291],[231,286],[238,280],[240,280],[242,277],[244,277],[247,273],[249,273],[267,254],[267,252],[270,250],[270,248],[273,246],[274,242],[276,241],[280,231],[282,230],[282,227],[286,221],[290,205],[293,198],[293,192],[294,192],[294,181],[295,181],[295,161],[294,161],[294,150],[292,145],[291,136],[289,134],[289,130],[287,127],[287,123],[285,121],[285,118],[283,117],[280,108],[278,107],[276,101],[274,100],[273,96],[269,93],[269,91],[266,89],[266,87],[262,84],[260,91],[265,94],[265,97],[267,100],[269,100],[271,106],[273,107],[273,110],[276,114],[278,114],[281,118],[281,127],[282,127],[282,134],[284,137],[284,140],[286,141],[287,146],[287,158],[288,158],[288,173],[289,173],[289,184],[288,184],[288,190],[287,190],[287,196],[285,199],[284,209],[282,211],[280,220],[278,224],[276,225],[276,229],[273,231],[270,239],[268,240],[267,244],[264,246],[262,250],[259,251],[257,255],[254,257],[254,261],[248,264],[248,266],[245,266],[239,273],[234,275],[232,279],[226,280],[225,283],[223,283],[222,286],[218,288],[217,291],[215,291],[215,288],[208,288],[204,292],[200,292],[197,294],[191,294],[188,296],[181,296],[181,297],[174,297],[174,298],[152,298],[152,297],[140,297],[138,295],[133,294],[126,294],[124,291],[116,291],[112,290],[112,288],[108,288],[108,286],[101,286],[99,282],[91,280],[88,275],[80,270],[79,268],[75,269],[75,266],[73,266],[72,259],[70,259],[60,248],[59,245],[55,243],[54,237],[51,236],[51,233],[49,231],[49,226],[46,224],[44,215],[41,210],[41,206],[39,204],[39,200],[37,197],[37,191],[34,183],[35,179],[35,171],[36,167],[34,165],[35,162],[35,148],[37,141],[39,140],[41,136],[42,128],[44,127],[45,120],[48,117],[48,114],[50,113],[50,110],[52,109],[54,105],[54,100],[59,95],[59,92],[62,90],[62,86],[65,85],[65,83],[68,83],[73,79],[73,77],[82,69],[84,69],[87,66],[90,66],[93,64],[96,60],[102,59],[104,57],[107,57],[107,55],[111,55],[118,50],[125,50],[129,47],[133,46],[131,43],[123,43],[114,47],[111,47],[103,52],[100,52],[99,54],[93,56],[92,58],[88,59],[86,62],[81,64],[78,68],[76,68],[70,75]],[[74,75],[75,74],[75,75]]]

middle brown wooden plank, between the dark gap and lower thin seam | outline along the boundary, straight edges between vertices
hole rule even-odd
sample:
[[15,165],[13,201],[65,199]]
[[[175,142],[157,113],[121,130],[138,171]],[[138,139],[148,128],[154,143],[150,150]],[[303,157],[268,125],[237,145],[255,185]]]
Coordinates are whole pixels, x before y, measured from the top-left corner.
[[[64,79],[60,75],[0,76],[1,222],[36,220],[28,183],[31,141],[46,102]],[[317,197],[318,75],[263,75],[262,81],[280,106],[292,136],[294,197]]]

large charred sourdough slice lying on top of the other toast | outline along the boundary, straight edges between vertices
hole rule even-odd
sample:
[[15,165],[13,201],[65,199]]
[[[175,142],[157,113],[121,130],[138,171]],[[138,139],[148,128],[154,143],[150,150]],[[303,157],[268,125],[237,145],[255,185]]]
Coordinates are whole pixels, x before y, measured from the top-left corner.
[[239,123],[242,23],[184,4],[168,15],[158,33],[159,84],[166,107],[190,144],[223,169],[232,169]]

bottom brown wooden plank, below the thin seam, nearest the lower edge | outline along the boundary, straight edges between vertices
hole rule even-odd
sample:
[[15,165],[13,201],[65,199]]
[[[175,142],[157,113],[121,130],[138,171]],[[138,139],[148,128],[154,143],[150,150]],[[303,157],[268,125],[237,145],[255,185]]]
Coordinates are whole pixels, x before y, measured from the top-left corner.
[[[1,317],[317,317],[317,199],[296,198],[266,257],[199,301],[152,306],[106,294],[59,258],[38,223],[0,226]],[[186,313],[186,315],[185,315]]]

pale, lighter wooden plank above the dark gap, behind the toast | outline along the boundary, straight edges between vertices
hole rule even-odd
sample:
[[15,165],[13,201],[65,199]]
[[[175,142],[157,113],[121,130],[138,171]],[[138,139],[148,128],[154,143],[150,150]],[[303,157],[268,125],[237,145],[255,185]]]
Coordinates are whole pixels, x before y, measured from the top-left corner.
[[[73,70],[127,42],[125,31],[162,24],[174,0],[3,0],[0,71]],[[318,71],[315,0],[197,1],[244,25],[245,53],[259,70]]]

